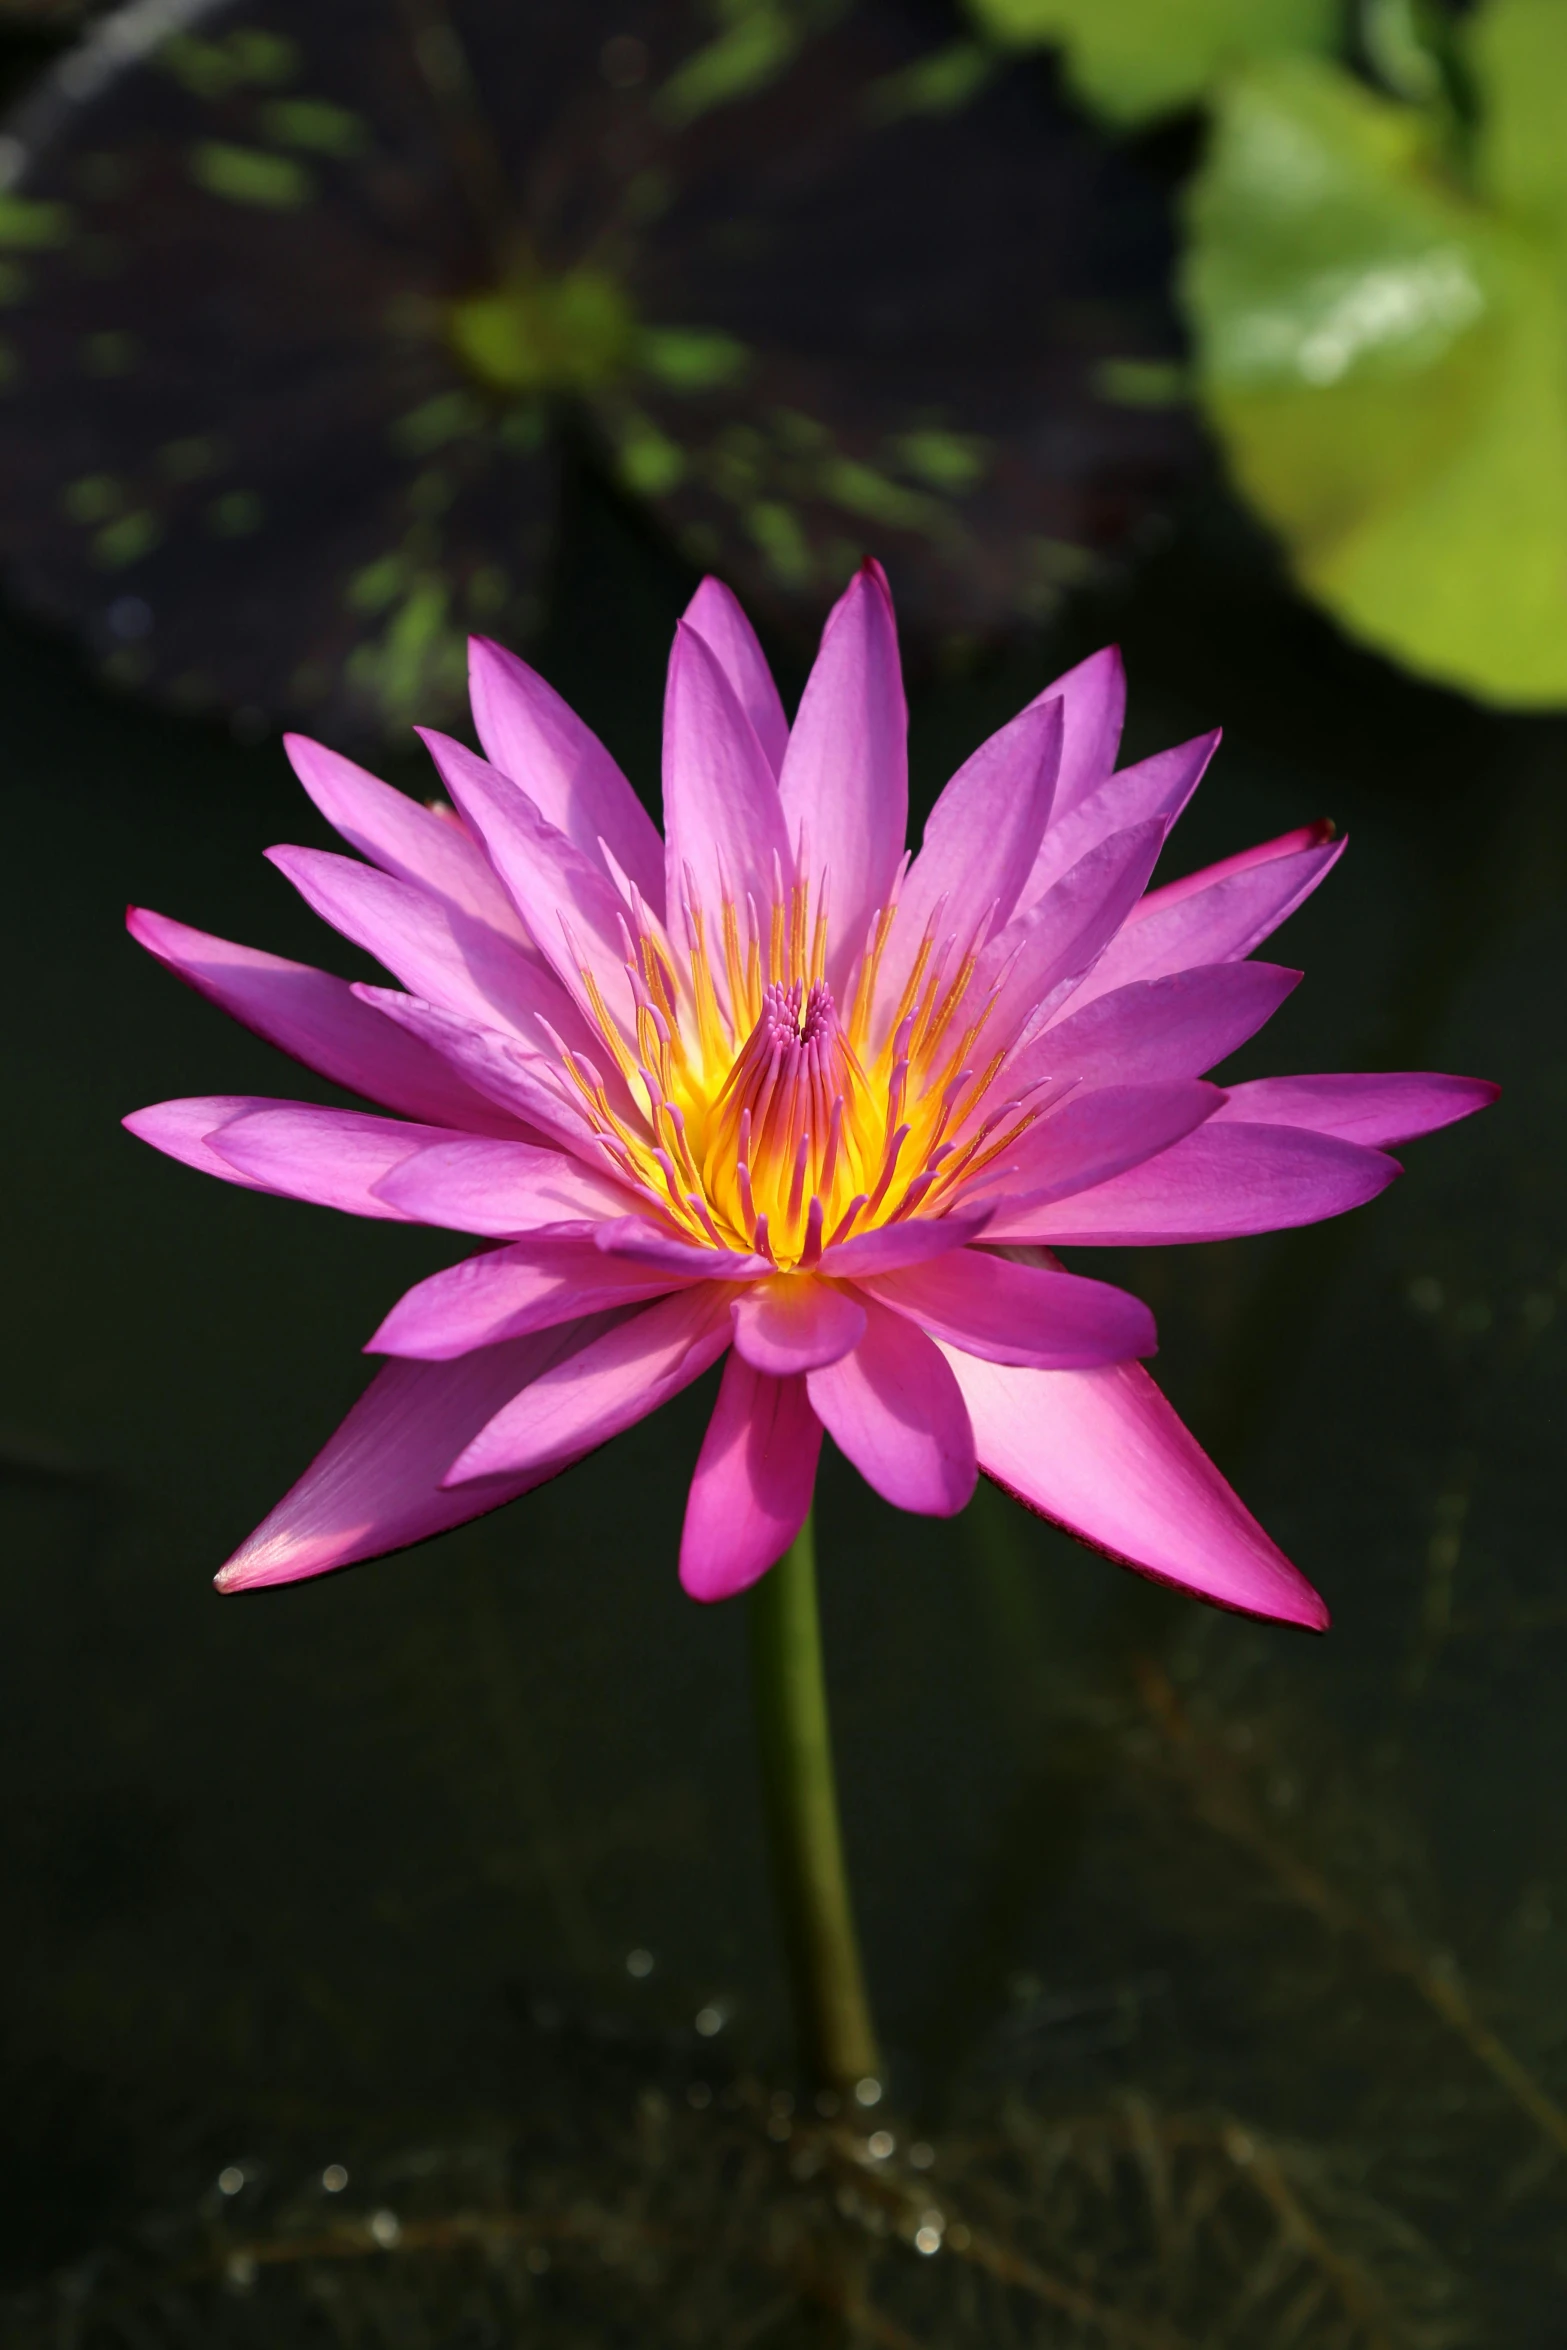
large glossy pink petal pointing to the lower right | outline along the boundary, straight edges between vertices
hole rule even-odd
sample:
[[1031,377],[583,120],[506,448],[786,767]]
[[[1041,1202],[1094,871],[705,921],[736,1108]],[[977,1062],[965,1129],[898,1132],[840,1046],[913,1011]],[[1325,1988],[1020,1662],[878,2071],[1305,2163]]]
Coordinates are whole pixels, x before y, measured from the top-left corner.
[[1135,1363],[1003,1370],[947,1351],[980,1466],[1027,1509],[1139,1574],[1240,1614],[1327,1629],[1278,1551]]

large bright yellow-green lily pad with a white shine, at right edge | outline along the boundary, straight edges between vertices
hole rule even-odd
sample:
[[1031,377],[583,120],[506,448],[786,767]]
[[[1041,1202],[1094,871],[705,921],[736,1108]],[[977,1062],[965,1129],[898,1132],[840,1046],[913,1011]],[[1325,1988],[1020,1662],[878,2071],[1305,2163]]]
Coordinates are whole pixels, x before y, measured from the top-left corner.
[[1222,96],[1184,298],[1231,470],[1353,634],[1485,700],[1567,700],[1555,247],[1330,66]]

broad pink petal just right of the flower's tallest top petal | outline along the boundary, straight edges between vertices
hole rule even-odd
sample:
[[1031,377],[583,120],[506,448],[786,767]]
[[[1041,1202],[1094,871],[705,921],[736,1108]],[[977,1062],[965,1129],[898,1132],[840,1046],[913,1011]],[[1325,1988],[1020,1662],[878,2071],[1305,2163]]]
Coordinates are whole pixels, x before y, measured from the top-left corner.
[[897,891],[881,964],[886,996],[902,994],[933,924],[937,945],[954,938],[968,947],[982,924],[1001,931],[1010,921],[1045,834],[1060,757],[1062,705],[1031,703],[956,771]]

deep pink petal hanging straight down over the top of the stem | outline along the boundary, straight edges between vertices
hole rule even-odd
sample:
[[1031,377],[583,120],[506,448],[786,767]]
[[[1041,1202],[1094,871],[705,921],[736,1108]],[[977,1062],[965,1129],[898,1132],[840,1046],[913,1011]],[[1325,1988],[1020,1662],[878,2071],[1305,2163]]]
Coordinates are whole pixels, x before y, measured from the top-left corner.
[[726,1600],[782,1558],[811,1509],[822,1422],[803,1379],[768,1379],[731,1354],[691,1478],[681,1584]]

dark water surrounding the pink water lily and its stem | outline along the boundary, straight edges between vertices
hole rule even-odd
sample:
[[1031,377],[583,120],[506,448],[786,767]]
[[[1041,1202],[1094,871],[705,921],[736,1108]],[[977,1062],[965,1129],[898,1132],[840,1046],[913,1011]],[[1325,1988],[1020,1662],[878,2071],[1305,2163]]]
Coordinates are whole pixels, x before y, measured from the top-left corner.
[[[789,2047],[745,1626],[674,1582],[705,1389],[418,1553],[211,1593],[385,1304],[460,1248],[117,1133],[176,1093],[327,1095],[141,956],[127,900],[357,966],[261,860],[324,839],[273,743],[0,637],[19,2341],[794,2341],[806,2272],[867,2341],[1562,2338],[1567,736],[1349,653],[1233,536],[1203,510],[1118,604],[919,682],[916,801],[1118,632],[1135,754],[1229,726],[1172,870],[1320,813],[1353,837],[1238,1074],[1440,1067],[1506,1100],[1344,1224],[1092,1264],[1156,1307],[1161,1377],[1330,1638],[1139,1586],[987,1495],[897,1518],[825,1466],[888,2127],[930,2138],[930,2193],[989,2214],[1001,2268],[897,2244],[923,2171],[897,2171],[914,2202],[876,2188],[881,2218],[839,2183],[822,2232],[848,2157],[761,2127]],[[540,665],[651,790],[688,580],[587,486],[566,550]],[[496,2298],[449,2216],[529,2197],[554,2254],[522,2261],[512,2216]],[[247,2289],[223,2249],[371,2204],[425,2235],[317,2244],[289,2270],[310,2291],[287,2263]],[[1041,2298],[1008,2258],[1099,2298]]]

